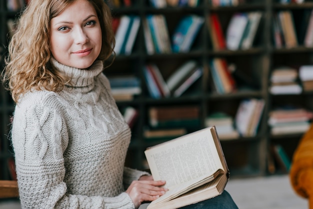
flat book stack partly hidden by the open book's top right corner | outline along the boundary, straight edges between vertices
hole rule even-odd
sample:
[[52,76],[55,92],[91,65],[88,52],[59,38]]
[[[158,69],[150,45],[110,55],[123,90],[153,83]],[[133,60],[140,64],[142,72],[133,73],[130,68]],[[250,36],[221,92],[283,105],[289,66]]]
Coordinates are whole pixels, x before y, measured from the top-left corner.
[[235,139],[239,137],[238,131],[234,128],[233,118],[225,112],[214,112],[205,119],[205,126],[215,126],[218,138]]

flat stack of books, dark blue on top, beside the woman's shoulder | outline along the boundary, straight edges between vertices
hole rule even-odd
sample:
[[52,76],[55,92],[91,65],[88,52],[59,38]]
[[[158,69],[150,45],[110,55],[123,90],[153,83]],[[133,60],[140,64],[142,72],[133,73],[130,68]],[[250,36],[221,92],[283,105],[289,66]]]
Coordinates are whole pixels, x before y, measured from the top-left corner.
[[111,93],[115,100],[132,100],[141,93],[140,80],[133,75],[108,77]]

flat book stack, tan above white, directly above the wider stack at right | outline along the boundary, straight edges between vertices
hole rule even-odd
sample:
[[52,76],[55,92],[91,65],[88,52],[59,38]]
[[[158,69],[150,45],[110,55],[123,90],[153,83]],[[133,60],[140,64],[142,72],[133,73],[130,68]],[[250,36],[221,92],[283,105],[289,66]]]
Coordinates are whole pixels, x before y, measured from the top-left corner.
[[281,66],[273,69],[269,86],[269,92],[272,94],[299,94],[302,87],[297,82],[298,71],[296,68]]

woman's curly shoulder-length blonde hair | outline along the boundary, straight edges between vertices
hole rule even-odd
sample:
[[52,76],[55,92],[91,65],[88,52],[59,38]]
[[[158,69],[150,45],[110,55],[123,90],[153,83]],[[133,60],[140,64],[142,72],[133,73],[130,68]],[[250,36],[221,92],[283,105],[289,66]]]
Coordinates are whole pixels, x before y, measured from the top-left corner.
[[[21,94],[32,89],[59,91],[68,82],[49,62],[50,20],[75,0],[31,0],[20,15],[16,32],[8,45],[2,80],[17,103]],[[98,60],[106,60],[113,52],[115,39],[111,12],[103,0],[87,0],[97,13],[102,45]]]

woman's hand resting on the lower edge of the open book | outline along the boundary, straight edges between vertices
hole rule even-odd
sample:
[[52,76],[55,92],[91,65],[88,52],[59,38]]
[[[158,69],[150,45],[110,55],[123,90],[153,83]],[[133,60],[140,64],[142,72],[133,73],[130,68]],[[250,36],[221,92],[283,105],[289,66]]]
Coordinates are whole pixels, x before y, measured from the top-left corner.
[[[153,201],[163,195],[167,188],[160,187],[165,184],[164,180],[146,180],[152,179],[150,175],[143,175],[139,179],[131,182],[126,190],[130,196],[135,208],[138,208],[143,201]],[[144,180],[143,180],[144,179]]]

